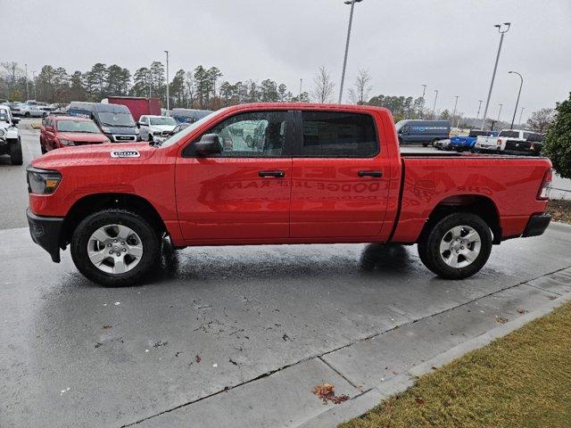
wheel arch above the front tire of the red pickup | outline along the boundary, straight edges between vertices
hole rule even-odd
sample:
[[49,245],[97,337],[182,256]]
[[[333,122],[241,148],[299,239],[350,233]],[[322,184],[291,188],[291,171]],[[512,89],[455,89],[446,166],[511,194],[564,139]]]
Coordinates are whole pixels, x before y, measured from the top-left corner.
[[130,210],[145,218],[160,234],[168,229],[151,202],[132,193],[93,193],[76,201],[65,216],[60,235],[60,247],[70,243],[71,235],[79,222],[87,216],[106,209]]

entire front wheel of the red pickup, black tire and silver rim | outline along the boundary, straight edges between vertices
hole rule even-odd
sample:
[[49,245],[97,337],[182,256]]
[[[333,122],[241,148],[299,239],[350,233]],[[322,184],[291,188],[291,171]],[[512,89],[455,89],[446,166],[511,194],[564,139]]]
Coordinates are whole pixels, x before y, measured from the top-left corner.
[[97,284],[137,284],[158,262],[160,236],[128,210],[102,210],[84,218],[71,236],[71,258]]

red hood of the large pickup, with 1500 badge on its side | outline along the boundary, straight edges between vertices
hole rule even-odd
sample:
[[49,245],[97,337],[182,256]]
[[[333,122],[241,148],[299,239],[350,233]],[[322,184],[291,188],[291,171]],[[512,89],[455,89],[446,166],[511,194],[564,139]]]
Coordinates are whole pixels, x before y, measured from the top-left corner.
[[70,165],[94,163],[138,163],[149,159],[157,151],[148,143],[110,143],[64,147],[47,152],[32,161],[32,166],[40,169],[57,169]]

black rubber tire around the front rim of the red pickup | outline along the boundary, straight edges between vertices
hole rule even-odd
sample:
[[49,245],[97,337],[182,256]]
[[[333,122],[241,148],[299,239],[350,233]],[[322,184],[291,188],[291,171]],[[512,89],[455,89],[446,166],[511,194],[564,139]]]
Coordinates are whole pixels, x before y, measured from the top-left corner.
[[[131,228],[141,240],[143,255],[137,266],[122,274],[103,272],[87,256],[87,245],[91,235],[100,227],[123,225]],[[120,287],[137,284],[159,262],[161,256],[161,236],[149,222],[137,213],[128,210],[102,210],[87,216],[73,231],[71,236],[71,259],[84,276],[96,284],[107,287]]]

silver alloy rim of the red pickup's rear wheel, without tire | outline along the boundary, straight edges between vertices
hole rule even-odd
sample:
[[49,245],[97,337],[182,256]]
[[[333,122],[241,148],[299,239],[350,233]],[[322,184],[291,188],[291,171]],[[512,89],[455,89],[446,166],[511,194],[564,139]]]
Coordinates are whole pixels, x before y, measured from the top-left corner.
[[440,257],[451,268],[466,268],[477,259],[482,239],[470,226],[454,226],[440,242]]

